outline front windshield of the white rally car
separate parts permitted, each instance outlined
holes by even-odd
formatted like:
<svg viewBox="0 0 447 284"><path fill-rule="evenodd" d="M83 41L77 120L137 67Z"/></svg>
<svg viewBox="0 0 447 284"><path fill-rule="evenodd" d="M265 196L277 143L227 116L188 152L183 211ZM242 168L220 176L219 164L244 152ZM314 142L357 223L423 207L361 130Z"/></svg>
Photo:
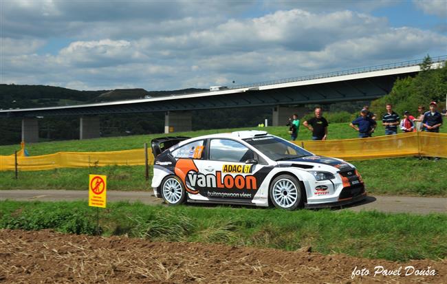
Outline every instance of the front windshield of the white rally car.
<svg viewBox="0 0 447 284"><path fill-rule="evenodd" d="M313 155L291 142L287 142L274 136L248 138L244 140L274 161L291 160L296 157Z"/></svg>

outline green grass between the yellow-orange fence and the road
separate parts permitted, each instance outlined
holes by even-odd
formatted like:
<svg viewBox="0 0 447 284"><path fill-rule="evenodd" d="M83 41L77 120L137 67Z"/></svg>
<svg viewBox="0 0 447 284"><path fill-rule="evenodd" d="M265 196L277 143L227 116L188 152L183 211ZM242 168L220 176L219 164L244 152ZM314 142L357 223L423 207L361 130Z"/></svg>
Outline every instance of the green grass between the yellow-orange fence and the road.
<svg viewBox="0 0 447 284"><path fill-rule="evenodd" d="M371 195L414 195L447 197L447 159L437 162L415 157L355 161ZM68 189L87 190L88 175L107 175L109 190L152 190L152 166L146 182L144 166L59 168L49 171L0 172L0 190ZM39 182L36 182L39 181Z"/></svg>

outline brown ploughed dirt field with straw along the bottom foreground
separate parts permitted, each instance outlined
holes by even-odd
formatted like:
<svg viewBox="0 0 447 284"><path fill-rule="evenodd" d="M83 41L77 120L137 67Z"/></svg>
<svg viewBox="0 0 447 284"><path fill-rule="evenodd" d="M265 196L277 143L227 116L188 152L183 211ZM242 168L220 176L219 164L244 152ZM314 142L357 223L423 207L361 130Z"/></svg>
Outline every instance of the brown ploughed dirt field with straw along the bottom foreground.
<svg viewBox="0 0 447 284"><path fill-rule="evenodd" d="M0 230L0 283L447 283L445 259L394 263L309 250ZM401 275L374 276L378 265ZM436 275L404 276L407 265ZM355 267L369 275L352 279Z"/></svg>

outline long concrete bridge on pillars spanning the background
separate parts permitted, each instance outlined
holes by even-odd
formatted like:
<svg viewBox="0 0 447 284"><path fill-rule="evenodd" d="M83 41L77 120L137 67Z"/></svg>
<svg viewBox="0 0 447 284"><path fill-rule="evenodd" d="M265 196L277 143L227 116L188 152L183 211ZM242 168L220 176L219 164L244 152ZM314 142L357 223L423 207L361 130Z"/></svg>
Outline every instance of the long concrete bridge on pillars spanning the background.
<svg viewBox="0 0 447 284"><path fill-rule="evenodd" d="M447 56L432 58L432 68L442 66ZM39 139L38 116L79 116L80 139L98 138L98 115L113 113L144 113L163 111L165 133L190 131L191 112L195 109L272 106L277 126L292 113L307 111L304 105L331 104L353 100L373 100L389 94L397 78L415 76L422 60L362 67L340 72L315 74L297 78L238 85L219 91L194 94L120 100L89 105L9 109L0 111L0 118L22 118L22 140Z"/></svg>

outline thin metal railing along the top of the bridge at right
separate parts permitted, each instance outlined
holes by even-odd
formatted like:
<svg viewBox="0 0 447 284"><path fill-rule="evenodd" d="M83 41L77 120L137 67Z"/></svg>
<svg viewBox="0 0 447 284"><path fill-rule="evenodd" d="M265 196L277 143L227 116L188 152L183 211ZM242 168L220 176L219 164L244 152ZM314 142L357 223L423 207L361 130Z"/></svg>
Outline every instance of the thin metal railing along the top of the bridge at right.
<svg viewBox="0 0 447 284"><path fill-rule="evenodd" d="M431 60L433 63L441 63L441 62L447 61L447 55L436 56L436 57L431 58ZM411 60L411 61L402 61L402 62L397 62L397 63L388 63L388 64L382 64L382 65L368 66L368 67L358 67L358 68L347 69L347 70L342 70L342 71L334 71L334 72L312 74L312 75L299 76L299 77L293 77L293 78L285 78L285 79L279 79L279 80L268 80L268 81L263 81L263 82L259 82L259 83L236 85L236 86L228 87L228 89L259 87L259 86L265 86L265 85L292 83L292 82L305 81L305 80L329 78L329 77L334 77L334 76L345 76L345 75L360 74L360 73L365 73L365 72L373 72L373 71L395 69L395 68L402 68L402 67L411 67L411 66L419 65L423 61L424 61L424 59L415 59L415 60Z"/></svg>

